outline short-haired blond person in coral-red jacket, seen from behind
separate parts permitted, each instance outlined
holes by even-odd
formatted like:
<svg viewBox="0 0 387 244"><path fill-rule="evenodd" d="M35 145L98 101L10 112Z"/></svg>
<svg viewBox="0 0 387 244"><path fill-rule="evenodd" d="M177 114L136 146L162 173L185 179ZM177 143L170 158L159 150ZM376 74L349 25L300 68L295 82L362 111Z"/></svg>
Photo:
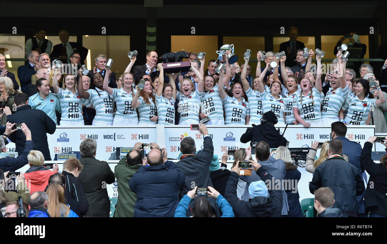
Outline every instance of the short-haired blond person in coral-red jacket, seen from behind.
<svg viewBox="0 0 387 244"><path fill-rule="evenodd" d="M31 150L27 156L29 169L24 173L24 178L26 178L26 184L30 189L31 194L35 191L43 191L48 184L48 179L51 175L58 172L58 164L53 164L52 171L43 164L45 163L45 158L43 153L36 150Z"/></svg>

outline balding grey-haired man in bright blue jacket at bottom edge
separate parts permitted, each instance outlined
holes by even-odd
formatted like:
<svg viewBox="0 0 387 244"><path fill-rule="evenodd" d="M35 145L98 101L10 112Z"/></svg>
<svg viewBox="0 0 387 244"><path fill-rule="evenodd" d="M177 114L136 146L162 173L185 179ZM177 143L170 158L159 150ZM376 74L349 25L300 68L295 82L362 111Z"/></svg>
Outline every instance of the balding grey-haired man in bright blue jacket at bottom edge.
<svg viewBox="0 0 387 244"><path fill-rule="evenodd" d="M36 191L32 193L28 198L29 203L29 215L28 217L51 217L48 210L48 195L44 191Z"/></svg>

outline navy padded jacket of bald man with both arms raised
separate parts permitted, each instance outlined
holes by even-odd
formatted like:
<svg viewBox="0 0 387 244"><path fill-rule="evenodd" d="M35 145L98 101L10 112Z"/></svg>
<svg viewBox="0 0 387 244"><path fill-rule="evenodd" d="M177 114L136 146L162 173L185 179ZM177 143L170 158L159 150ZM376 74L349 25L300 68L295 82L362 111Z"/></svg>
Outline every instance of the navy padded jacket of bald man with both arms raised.
<svg viewBox="0 0 387 244"><path fill-rule="evenodd" d="M134 217L173 217L184 181L185 175L172 161L141 166L129 181L137 195Z"/></svg>

